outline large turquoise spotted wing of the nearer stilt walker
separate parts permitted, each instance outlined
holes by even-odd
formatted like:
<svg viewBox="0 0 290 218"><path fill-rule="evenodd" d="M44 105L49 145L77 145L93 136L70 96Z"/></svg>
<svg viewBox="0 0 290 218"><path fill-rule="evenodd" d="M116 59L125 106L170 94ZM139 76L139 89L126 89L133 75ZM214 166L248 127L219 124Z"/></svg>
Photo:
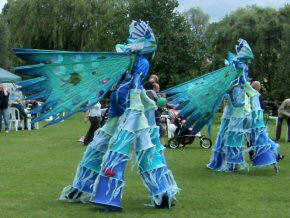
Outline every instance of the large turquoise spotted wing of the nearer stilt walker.
<svg viewBox="0 0 290 218"><path fill-rule="evenodd" d="M40 113L33 121L65 112L48 125L87 110L87 102L96 103L128 71L133 56L127 53L68 52L37 49L14 49L16 55L35 65L16 67L20 74L33 76L18 85L27 99L44 103L31 111Z"/></svg>

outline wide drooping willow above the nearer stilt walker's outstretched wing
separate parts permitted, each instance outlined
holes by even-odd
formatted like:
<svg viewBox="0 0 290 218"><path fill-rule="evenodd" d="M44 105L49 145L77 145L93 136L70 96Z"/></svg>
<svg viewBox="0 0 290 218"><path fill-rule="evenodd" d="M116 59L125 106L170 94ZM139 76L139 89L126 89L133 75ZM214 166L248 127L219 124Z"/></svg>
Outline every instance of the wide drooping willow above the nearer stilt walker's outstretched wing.
<svg viewBox="0 0 290 218"><path fill-rule="evenodd" d="M127 12L122 2L11 1L8 9L11 45L76 51L113 50L114 42L125 35L122 27ZM116 22L117 19L120 22Z"/></svg>

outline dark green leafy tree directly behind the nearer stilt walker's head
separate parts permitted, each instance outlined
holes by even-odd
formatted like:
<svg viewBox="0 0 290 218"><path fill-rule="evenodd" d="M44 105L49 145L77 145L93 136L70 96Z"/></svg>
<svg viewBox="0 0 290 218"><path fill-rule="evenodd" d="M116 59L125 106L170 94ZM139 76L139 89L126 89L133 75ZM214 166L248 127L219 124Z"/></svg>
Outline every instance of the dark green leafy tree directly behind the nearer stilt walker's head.
<svg viewBox="0 0 290 218"><path fill-rule="evenodd" d="M150 21L158 38L151 71L159 75L162 89L192 79L205 60L190 25L175 11L177 6L176 0L131 0L129 6L130 18Z"/></svg>

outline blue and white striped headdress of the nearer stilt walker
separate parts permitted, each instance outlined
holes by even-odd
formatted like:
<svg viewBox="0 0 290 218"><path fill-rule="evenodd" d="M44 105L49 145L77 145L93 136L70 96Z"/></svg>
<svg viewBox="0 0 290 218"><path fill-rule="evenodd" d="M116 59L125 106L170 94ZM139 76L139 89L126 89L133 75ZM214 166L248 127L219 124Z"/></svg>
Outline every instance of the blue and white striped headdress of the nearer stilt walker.
<svg viewBox="0 0 290 218"><path fill-rule="evenodd" d="M155 35L148 22L133 21L129 27L128 44L117 44L117 52L151 54L157 49Z"/></svg>

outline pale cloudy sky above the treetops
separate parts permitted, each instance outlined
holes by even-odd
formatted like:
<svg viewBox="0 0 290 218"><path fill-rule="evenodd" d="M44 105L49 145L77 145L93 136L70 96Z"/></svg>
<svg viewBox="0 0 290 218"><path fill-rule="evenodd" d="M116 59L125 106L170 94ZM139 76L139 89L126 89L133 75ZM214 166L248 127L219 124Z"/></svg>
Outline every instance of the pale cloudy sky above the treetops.
<svg viewBox="0 0 290 218"><path fill-rule="evenodd" d="M184 12L193 7L200 7L203 12L209 14L211 21L219 21L225 15L230 14L240 7L258 5L261 7L281 8L290 4L290 0L178 0L178 11ZM7 0L0 0L2 10Z"/></svg>

